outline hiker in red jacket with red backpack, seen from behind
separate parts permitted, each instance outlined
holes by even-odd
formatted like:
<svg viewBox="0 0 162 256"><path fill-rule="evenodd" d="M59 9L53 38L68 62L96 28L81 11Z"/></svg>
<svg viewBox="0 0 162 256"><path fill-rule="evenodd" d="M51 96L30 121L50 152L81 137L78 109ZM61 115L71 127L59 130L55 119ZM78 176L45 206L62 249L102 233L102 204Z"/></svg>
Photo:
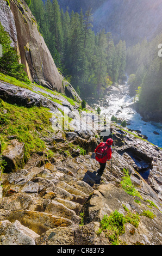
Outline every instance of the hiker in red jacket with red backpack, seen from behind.
<svg viewBox="0 0 162 256"><path fill-rule="evenodd" d="M113 144L113 139L109 138L109 139L107 139L107 141L105 143L101 142L95 149L95 153L96 153L95 158L100 164L100 168L98 170L99 175L103 174L107 160L111 159L111 154L112 154L111 145L112 144Z"/></svg>

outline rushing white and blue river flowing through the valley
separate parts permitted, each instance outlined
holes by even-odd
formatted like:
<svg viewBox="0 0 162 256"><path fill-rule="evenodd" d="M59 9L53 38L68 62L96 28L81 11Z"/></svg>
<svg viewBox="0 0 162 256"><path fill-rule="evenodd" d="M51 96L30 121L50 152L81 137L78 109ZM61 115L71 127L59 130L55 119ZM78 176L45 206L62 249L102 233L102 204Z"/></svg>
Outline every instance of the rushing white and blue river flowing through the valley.
<svg viewBox="0 0 162 256"><path fill-rule="evenodd" d="M141 115L132 107L134 97L129 94L127 82L119 85L118 89L119 92L111 92L106 97L108 106L104 102L100 105L101 114L108 114L110 119L113 115L117 118L126 119L128 129L139 130L141 135L147 136L147 141L162 148L162 124L142 120Z"/></svg>

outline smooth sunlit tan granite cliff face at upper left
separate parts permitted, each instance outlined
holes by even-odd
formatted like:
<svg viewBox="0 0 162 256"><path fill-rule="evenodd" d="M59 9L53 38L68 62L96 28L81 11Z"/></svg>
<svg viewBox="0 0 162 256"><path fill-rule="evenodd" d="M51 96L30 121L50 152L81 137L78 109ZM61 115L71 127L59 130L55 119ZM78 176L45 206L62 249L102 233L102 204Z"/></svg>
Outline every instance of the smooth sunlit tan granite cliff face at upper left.
<svg viewBox="0 0 162 256"><path fill-rule="evenodd" d="M17 31L17 47L30 80L63 92L62 80L52 56L38 31L34 16L25 1L10 1Z"/></svg>

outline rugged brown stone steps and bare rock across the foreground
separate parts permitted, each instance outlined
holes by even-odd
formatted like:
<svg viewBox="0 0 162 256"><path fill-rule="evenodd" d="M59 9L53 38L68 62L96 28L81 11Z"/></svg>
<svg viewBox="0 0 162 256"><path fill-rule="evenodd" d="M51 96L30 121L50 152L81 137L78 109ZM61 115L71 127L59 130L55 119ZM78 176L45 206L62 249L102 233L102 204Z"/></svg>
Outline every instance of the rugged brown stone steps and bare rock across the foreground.
<svg viewBox="0 0 162 256"><path fill-rule="evenodd" d="M69 132L65 135L73 143L77 137L72 138ZM85 140L83 135L81 141ZM59 141L59 137L55 139ZM114 143L112 166L107 162L102 176L97 174L99 164L92 158L92 150L80 155L73 148L70 155L57 152L50 160L43 152L33 153L23 168L3 173L0 244L111 245L104 231L98 234L100 222L115 210L126 216L127 208L139 215L140 221L136 227L124 225L120 244L160 245L161 150L115 125ZM64 139L58 142L59 148L66 144ZM131 157L133 154L138 163ZM150 171L146 182L138 171L147 168ZM123 190L123 169L129 171L132 186L140 196ZM153 218L142 215L148 210Z"/></svg>

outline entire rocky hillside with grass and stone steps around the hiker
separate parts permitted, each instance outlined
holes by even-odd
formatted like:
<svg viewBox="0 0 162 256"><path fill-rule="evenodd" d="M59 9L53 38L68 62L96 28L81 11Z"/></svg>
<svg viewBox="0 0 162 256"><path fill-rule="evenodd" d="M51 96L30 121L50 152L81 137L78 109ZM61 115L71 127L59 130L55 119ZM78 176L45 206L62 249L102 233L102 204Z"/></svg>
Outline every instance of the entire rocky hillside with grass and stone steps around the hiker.
<svg viewBox="0 0 162 256"><path fill-rule="evenodd" d="M161 149L111 124L113 159L99 176L92 157L99 142L95 112L83 112L86 129L78 103L52 90L1 81L0 95L7 162L0 181L1 245L161 245ZM70 129L55 126L61 117ZM139 171L146 170L144 180ZM122 220L117 231L116 222L108 225L112 217Z"/></svg>

